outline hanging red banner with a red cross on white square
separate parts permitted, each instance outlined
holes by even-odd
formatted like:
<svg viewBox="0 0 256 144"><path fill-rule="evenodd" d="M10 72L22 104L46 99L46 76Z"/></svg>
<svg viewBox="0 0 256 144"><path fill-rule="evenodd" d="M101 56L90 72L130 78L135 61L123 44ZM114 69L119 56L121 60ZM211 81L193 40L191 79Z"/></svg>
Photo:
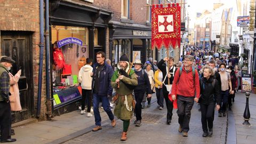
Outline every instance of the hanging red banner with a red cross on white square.
<svg viewBox="0 0 256 144"><path fill-rule="evenodd" d="M180 6L168 4L167 7L153 5L151 9L151 48L168 49L180 47Z"/></svg>

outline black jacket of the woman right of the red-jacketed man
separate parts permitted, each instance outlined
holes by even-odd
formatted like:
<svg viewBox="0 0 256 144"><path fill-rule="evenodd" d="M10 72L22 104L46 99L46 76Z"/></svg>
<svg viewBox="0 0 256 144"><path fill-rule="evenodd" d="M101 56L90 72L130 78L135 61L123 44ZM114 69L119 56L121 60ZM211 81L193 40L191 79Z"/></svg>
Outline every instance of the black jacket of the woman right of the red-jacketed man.
<svg viewBox="0 0 256 144"><path fill-rule="evenodd" d="M211 76L209 79L202 77L200 79L200 94L199 99L200 103L209 105L210 103L215 103L214 95L217 101L217 104L221 103L221 95L218 81Z"/></svg>

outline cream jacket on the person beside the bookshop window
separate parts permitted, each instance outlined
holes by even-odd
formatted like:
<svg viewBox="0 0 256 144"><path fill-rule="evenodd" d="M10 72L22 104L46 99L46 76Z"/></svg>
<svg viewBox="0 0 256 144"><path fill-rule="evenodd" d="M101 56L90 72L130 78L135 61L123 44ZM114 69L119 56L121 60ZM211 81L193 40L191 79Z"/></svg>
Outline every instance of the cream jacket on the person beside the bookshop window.
<svg viewBox="0 0 256 144"><path fill-rule="evenodd" d="M82 89L92 90L92 69L90 65L85 65L79 70L78 82L81 83Z"/></svg>

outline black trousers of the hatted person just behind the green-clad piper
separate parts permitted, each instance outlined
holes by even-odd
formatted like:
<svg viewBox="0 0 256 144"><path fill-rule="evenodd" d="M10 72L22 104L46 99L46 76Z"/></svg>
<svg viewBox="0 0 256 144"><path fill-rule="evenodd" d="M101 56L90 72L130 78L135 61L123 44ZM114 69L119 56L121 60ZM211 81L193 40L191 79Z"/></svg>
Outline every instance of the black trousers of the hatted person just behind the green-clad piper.
<svg viewBox="0 0 256 144"><path fill-rule="evenodd" d="M136 121L141 120L141 102L143 100L143 97L145 95L146 89L143 90L134 90L134 96L136 100L136 105L135 105L135 116L136 116Z"/></svg>

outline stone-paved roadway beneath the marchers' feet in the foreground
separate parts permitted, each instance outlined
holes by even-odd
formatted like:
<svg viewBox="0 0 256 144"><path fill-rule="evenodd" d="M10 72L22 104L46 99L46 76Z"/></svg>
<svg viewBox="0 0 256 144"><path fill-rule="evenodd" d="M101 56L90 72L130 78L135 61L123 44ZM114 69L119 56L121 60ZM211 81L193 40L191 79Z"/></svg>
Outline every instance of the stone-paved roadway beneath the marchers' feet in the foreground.
<svg viewBox="0 0 256 144"><path fill-rule="evenodd" d="M198 108L199 105L195 103L191 111L188 137L182 137L182 134L178 132L176 110L173 110L171 125L166 125L166 108L158 110L155 98L150 108L142 109L140 127L133 124L135 118L133 117L127 132L128 139L123 143L225 143L227 118L218 117L215 111L213 137L203 138L201 112ZM110 121L103 123L102 130L86 133L66 143L121 143L122 124L123 122L118 120L116 127L113 128L110 126Z"/></svg>

